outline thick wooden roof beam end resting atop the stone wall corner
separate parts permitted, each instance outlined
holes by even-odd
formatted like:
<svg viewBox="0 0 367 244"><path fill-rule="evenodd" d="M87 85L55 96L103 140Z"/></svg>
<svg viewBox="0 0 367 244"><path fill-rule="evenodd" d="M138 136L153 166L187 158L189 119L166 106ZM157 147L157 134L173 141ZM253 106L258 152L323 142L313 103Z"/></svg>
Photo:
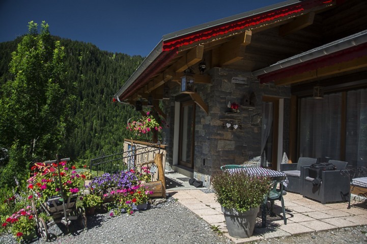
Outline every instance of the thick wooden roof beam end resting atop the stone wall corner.
<svg viewBox="0 0 367 244"><path fill-rule="evenodd" d="M243 47L251 43L251 31L245 31L220 47L220 66L232 64L243 58Z"/></svg>

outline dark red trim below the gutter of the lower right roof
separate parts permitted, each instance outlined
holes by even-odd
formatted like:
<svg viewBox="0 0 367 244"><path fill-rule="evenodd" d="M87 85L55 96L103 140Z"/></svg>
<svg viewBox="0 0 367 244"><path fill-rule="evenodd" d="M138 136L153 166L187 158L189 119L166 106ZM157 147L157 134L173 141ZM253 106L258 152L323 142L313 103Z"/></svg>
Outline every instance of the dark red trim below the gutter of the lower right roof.
<svg viewBox="0 0 367 244"><path fill-rule="evenodd" d="M274 71L272 73L267 73L259 76L259 79L260 83L277 81L292 75L302 74L307 71L312 71L319 68L332 66L338 63L347 62L363 56L367 56L367 44L347 48L326 56L308 60L307 62L300 63L298 65L290 66L281 70Z"/></svg>

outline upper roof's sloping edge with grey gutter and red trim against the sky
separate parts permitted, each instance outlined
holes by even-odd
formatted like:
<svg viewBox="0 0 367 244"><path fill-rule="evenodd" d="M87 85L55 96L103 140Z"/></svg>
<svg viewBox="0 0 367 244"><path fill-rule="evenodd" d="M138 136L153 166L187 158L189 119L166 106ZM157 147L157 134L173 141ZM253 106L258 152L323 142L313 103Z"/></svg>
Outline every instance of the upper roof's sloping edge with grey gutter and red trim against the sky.
<svg viewBox="0 0 367 244"><path fill-rule="evenodd" d="M127 100L162 72L167 65L170 65L170 62L182 51L248 30L256 31L264 26L306 14L311 10L318 11L334 5L336 0L291 0L167 34L126 81L115 98L120 101Z"/></svg>

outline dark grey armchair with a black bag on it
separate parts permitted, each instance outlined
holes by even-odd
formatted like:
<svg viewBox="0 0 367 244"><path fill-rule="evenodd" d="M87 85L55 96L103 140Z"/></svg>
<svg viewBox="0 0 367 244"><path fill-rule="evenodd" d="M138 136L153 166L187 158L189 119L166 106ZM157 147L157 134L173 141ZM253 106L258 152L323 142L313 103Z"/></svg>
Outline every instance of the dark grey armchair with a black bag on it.
<svg viewBox="0 0 367 244"><path fill-rule="evenodd" d="M349 178L341 171L346 169L348 163L338 160L329 160L336 166L336 170L322 171L320 185L314 185L314 178L309 177L309 167L303 170L302 195L325 204L327 202L345 201L349 194Z"/></svg>

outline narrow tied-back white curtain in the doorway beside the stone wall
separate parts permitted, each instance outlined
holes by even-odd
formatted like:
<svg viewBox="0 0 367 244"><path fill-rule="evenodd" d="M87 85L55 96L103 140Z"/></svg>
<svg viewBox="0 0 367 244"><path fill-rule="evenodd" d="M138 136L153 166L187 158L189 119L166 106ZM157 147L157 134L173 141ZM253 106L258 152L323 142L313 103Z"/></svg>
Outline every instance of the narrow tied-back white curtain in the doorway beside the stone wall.
<svg viewBox="0 0 367 244"><path fill-rule="evenodd" d="M261 165L263 167L265 167L266 163L268 162L267 155L269 154L267 154L265 146L267 144L270 135L272 124L273 124L273 103L265 102L263 104L263 116L261 127Z"/></svg>

